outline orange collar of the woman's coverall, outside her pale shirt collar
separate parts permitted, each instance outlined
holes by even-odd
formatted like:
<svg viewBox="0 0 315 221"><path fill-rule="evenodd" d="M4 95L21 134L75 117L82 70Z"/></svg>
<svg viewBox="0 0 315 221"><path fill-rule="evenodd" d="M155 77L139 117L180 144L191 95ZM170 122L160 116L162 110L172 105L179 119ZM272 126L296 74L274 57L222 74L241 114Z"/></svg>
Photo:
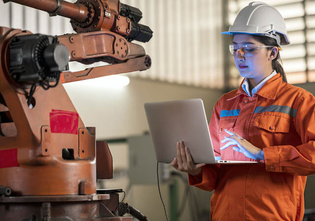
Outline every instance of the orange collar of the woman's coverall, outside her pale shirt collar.
<svg viewBox="0 0 315 221"><path fill-rule="evenodd" d="M245 81L245 78L243 79L241 85L239 86L239 88L235 92L234 96L227 99L227 101L232 100L241 94L248 95L243 90L243 87L242 87L244 81ZM264 83L264 86L261 86L260 90L257 91L256 94L258 94L262 97L265 97L267 99L275 100L276 95L277 95L277 91L278 91L278 88L279 88L279 85L281 82L282 82L282 76L280 75L280 73L277 73L276 75L272 76L269 80L267 80Z"/></svg>

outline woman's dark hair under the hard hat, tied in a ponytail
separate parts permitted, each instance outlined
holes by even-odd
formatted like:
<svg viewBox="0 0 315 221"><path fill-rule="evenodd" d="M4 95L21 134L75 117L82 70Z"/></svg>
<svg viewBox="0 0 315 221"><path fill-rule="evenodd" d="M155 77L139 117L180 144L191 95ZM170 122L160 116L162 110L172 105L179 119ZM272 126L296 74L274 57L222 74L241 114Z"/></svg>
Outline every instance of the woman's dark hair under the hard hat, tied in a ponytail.
<svg viewBox="0 0 315 221"><path fill-rule="evenodd" d="M267 36L261 36L261 35L252 35L252 36L254 39L256 39L257 41L259 41L260 43L262 43L264 45L280 47L277 44L277 40L275 38L271 38L271 37L267 37ZM271 49L268 48L268 50L271 50ZM280 60L282 63L279 52L278 52L277 57L275 59L273 59L271 62L272 69L276 70L277 73L281 74L283 82L287 82L286 77L285 77L285 73L284 73L284 69L278 60Z"/></svg>

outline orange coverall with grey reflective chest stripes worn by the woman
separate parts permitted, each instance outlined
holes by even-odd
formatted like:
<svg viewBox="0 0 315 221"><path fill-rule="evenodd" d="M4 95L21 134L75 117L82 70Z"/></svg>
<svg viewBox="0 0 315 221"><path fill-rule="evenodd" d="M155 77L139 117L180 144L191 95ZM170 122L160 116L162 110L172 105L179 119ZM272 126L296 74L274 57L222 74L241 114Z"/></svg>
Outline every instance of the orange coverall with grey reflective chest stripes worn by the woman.
<svg viewBox="0 0 315 221"><path fill-rule="evenodd" d="M244 81L244 80L243 80ZM242 85L242 84L241 84ZM315 97L278 73L253 97L240 86L221 96L209 124L216 156L255 161L220 150L228 129L264 151L264 164L206 165L189 185L213 191L212 221L302 221L306 176L315 173Z"/></svg>

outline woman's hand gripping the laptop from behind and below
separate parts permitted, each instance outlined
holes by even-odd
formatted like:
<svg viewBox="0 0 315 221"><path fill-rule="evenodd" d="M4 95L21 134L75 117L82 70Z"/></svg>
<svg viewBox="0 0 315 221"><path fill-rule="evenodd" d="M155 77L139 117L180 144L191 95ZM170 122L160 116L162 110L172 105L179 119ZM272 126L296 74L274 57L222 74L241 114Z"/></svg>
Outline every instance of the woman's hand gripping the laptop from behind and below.
<svg viewBox="0 0 315 221"><path fill-rule="evenodd" d="M177 158L172 161L172 166L181 171L187 172L192 176L195 176L202 172L201 166L206 164L194 164L189 152L188 147L185 147L184 141L177 142Z"/></svg>

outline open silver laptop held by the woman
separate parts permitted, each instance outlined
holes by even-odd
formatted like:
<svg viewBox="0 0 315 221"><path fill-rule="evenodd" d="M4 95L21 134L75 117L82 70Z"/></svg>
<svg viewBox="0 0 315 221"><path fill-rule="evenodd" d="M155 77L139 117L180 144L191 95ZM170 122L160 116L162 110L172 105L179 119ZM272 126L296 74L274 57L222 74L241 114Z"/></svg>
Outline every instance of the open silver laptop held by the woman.
<svg viewBox="0 0 315 221"><path fill-rule="evenodd" d="M176 143L183 140L196 164L260 163L216 160L201 99L145 103L144 108L158 162L171 163L177 157Z"/></svg>

